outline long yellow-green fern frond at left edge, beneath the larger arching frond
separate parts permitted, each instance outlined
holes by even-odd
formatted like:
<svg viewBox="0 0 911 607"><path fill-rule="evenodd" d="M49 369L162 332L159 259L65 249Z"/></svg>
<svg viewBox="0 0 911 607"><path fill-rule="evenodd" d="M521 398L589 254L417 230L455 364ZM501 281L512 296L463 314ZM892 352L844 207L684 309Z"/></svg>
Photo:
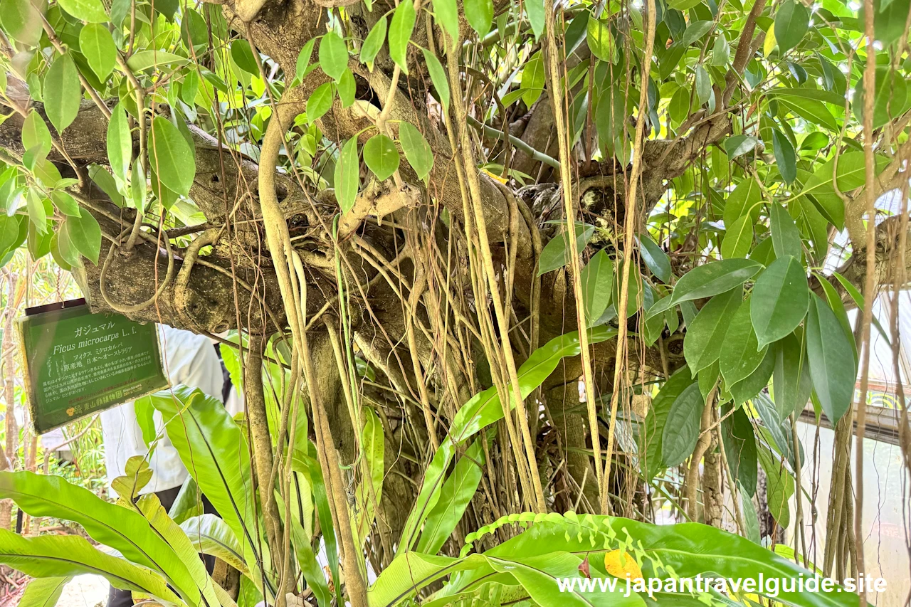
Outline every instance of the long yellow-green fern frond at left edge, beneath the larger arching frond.
<svg viewBox="0 0 911 607"><path fill-rule="evenodd" d="M42 535L27 539L12 531L0 530L0 562L39 579L58 580L60 576L85 573L102 575L115 588L145 592L168 603L180 602L179 596L169 590L158 574L97 550L85 538L76 535Z"/></svg>

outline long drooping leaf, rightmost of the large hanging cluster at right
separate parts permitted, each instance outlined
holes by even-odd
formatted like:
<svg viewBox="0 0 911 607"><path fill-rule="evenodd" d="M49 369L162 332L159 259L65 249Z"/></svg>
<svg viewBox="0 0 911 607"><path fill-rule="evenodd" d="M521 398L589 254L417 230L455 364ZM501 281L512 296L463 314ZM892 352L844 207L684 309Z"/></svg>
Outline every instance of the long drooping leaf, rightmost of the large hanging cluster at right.
<svg viewBox="0 0 911 607"><path fill-rule="evenodd" d="M854 351L832 309L815 293L806 317L806 353L810 376L825 417L833 424L854 400L857 369Z"/></svg>

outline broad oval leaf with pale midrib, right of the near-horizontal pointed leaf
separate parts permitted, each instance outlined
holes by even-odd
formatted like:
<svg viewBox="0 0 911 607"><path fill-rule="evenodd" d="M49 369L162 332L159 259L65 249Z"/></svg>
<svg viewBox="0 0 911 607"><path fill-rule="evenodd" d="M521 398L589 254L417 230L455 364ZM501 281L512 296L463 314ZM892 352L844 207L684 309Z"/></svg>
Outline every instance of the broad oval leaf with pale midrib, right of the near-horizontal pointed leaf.
<svg viewBox="0 0 911 607"><path fill-rule="evenodd" d="M772 262L756 280L752 293L750 313L759 347L792 333L810 305L804 266L791 255Z"/></svg>

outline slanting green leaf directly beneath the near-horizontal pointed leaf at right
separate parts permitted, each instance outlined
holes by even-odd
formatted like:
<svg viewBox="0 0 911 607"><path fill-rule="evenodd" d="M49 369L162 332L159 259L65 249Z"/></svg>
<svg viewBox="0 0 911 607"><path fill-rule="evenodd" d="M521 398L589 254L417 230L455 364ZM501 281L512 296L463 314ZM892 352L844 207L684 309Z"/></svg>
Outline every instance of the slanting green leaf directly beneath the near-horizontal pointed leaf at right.
<svg viewBox="0 0 911 607"><path fill-rule="evenodd" d="M742 302L742 288L734 287L727 293L715 295L702 306L687 327L683 337L683 355L687 365L690 365L692 376L718 360L728 325Z"/></svg>

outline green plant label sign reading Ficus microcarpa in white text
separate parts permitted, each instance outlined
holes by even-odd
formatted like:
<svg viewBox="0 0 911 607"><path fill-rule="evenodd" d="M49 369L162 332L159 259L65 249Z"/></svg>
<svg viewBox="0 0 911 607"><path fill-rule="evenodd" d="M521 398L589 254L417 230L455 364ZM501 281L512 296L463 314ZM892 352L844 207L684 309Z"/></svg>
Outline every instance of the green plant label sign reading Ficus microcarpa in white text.
<svg viewBox="0 0 911 607"><path fill-rule="evenodd" d="M154 324L77 300L26 311L18 330L38 434L169 386Z"/></svg>

